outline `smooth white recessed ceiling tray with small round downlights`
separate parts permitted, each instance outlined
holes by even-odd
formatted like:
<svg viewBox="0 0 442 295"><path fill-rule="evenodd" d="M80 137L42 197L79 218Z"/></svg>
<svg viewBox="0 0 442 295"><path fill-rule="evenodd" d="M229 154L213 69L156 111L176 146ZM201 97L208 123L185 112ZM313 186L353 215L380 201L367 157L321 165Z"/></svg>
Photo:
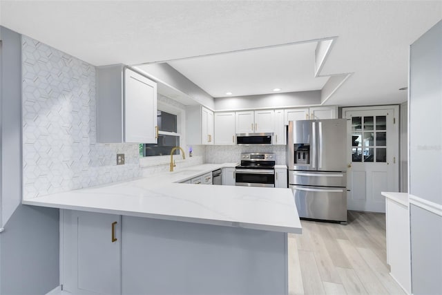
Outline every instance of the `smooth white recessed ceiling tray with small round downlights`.
<svg viewBox="0 0 442 295"><path fill-rule="evenodd" d="M182 75L212 97L281 92L311 91L323 88L328 77L315 77L314 53L318 42L308 42L171 61Z"/></svg>

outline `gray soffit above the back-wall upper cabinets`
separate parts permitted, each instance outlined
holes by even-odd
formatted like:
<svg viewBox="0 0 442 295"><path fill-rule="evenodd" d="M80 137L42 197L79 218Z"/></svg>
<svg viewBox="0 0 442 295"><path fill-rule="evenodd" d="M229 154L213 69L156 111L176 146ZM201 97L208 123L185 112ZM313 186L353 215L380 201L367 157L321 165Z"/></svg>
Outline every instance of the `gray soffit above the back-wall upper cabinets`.
<svg viewBox="0 0 442 295"><path fill-rule="evenodd" d="M282 108L320 104L320 91L300 91L215 98L215 110Z"/></svg>

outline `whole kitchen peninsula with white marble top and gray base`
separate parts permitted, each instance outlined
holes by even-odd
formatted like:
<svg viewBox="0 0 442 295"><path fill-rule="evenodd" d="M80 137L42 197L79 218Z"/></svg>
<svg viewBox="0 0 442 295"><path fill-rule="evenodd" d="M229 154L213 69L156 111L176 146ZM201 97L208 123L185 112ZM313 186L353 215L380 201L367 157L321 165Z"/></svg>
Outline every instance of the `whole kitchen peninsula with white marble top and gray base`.
<svg viewBox="0 0 442 295"><path fill-rule="evenodd" d="M68 292L288 294L287 233L302 231L291 189L177 183L225 166L23 204L64 209L61 284Z"/></svg>

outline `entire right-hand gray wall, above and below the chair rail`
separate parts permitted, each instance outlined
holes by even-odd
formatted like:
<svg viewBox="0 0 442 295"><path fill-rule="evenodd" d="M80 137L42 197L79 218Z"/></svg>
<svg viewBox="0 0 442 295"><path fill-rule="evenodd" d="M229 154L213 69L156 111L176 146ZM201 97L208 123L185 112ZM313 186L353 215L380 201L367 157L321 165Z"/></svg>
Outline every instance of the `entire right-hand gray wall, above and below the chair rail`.
<svg viewBox="0 0 442 295"><path fill-rule="evenodd" d="M412 293L442 294L442 21L410 48L410 207ZM439 214L437 214L439 211Z"/></svg>

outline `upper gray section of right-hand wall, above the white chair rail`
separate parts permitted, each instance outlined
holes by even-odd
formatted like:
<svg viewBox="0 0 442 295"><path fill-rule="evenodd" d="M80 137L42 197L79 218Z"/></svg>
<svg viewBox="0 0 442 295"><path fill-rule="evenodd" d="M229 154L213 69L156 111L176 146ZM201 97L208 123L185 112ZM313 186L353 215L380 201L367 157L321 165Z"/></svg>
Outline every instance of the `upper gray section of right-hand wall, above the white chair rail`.
<svg viewBox="0 0 442 295"><path fill-rule="evenodd" d="M410 193L442 204L442 21L410 55Z"/></svg>

